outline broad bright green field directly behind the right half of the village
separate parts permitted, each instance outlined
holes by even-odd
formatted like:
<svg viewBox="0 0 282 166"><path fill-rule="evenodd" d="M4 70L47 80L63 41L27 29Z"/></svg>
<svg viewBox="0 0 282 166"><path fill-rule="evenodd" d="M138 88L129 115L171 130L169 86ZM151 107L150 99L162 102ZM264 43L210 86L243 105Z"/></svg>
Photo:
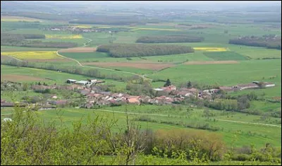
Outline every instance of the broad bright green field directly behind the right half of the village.
<svg viewBox="0 0 282 166"><path fill-rule="evenodd" d="M152 78L170 78L173 83L195 81L197 83L237 85L252 81L274 82L281 89L281 60L240 61L238 64L179 65L159 73ZM277 76L269 79L270 76ZM277 92L276 94L281 94Z"/></svg>

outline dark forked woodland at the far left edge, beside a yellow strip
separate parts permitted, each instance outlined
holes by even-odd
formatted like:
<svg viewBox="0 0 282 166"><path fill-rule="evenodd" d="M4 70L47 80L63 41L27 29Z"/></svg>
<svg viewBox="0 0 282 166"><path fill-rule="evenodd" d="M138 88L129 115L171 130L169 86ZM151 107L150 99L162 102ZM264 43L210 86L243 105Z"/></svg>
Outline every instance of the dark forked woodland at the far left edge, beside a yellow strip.
<svg viewBox="0 0 282 166"><path fill-rule="evenodd" d="M49 47L49 48L70 48L77 47L74 42L42 42L41 40L26 39L44 39L45 35L39 34L11 34L1 33L1 45L17 47Z"/></svg>

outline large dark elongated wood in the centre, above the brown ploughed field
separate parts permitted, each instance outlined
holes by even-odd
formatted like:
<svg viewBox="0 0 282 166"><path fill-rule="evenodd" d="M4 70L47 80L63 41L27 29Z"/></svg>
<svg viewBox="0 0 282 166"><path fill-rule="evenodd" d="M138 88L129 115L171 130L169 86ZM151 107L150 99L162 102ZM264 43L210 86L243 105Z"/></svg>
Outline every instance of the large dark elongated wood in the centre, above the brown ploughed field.
<svg viewBox="0 0 282 166"><path fill-rule="evenodd" d="M179 45L112 44L99 46L97 52L108 52L111 57L146 57L185 54L194 49Z"/></svg>

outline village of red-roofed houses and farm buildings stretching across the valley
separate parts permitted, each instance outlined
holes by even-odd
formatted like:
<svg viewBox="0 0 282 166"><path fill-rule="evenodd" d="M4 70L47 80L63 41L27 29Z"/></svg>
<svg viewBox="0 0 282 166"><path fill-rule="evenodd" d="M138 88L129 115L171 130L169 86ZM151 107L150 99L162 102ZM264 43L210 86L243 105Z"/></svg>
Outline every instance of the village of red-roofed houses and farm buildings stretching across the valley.
<svg viewBox="0 0 282 166"><path fill-rule="evenodd" d="M32 85L32 90L36 92L44 92L45 90L71 90L80 93L81 97L85 98L84 103L80 103L79 107L93 108L102 105L172 105L180 104L187 97L194 97L199 100L214 100L214 95L220 91L234 92L238 90L255 89L255 88L269 88L274 87L274 83L266 83L253 81L252 83L239 84L233 86L219 86L219 88L199 90L197 88L176 88L175 85L168 85L166 87L154 88L154 96L147 95L129 95L128 93L111 93L99 88L98 84L105 83L105 81L99 81L97 79L88 79L87 81L76 81L74 79L68 79L66 81L68 85ZM61 99L56 95L49 95L49 100L46 102L36 103L39 105L39 109L51 109L54 107L61 107L63 105L69 105L70 100ZM13 107L13 102L7 102L1 100L1 107ZM27 102L18 102L19 106L29 105Z"/></svg>

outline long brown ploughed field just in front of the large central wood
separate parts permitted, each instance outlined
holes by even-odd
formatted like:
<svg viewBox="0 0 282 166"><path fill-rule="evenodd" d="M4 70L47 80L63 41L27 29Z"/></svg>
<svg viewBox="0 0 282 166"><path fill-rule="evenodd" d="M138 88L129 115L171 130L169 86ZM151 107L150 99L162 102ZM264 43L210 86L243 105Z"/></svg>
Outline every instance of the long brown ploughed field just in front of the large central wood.
<svg viewBox="0 0 282 166"><path fill-rule="evenodd" d="M127 63L127 62L85 62L82 65L95 65L100 67L133 67L138 69L161 70L173 66L173 64L159 63Z"/></svg>

